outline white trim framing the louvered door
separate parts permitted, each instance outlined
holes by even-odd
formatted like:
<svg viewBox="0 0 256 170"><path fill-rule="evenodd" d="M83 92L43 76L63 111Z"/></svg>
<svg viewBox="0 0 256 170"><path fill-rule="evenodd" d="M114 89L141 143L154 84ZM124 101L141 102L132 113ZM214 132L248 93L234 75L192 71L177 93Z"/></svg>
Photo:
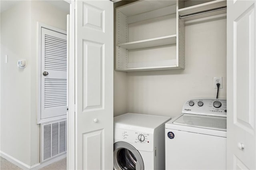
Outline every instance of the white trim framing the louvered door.
<svg viewBox="0 0 256 170"><path fill-rule="evenodd" d="M67 32L65 30L61 30L59 28L53 27L53 26L49 26L47 24L41 23L41 22L37 22L37 35L38 35L38 45L37 45L37 51L38 51L38 98L37 98L37 124L41 124L41 123L47 123L47 122L51 122L51 121L57 121L60 119L66 119L67 116L63 115L63 116L58 116L58 117L51 117L51 118L47 118L47 119L41 119L41 36L42 36L42 28L46 28L48 30L52 30L55 32L59 32L62 34L66 34Z"/></svg>

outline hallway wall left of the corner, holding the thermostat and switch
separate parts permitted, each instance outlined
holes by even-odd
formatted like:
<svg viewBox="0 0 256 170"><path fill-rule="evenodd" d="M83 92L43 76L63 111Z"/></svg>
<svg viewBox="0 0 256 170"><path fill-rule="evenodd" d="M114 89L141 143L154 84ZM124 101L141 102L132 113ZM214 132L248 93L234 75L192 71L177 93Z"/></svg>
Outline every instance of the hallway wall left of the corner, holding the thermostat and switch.
<svg viewBox="0 0 256 170"><path fill-rule="evenodd" d="M1 152L30 164L30 2L1 13ZM4 55L8 54L8 63ZM25 69L17 67L26 59Z"/></svg>

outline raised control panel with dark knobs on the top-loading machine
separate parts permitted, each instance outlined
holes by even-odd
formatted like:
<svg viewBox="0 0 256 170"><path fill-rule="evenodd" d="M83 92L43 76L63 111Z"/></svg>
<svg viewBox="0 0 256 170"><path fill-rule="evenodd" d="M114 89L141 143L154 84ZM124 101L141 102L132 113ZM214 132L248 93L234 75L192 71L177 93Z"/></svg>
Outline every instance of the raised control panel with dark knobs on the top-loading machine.
<svg viewBox="0 0 256 170"><path fill-rule="evenodd" d="M182 113L210 116L227 116L226 99L190 99L182 108Z"/></svg>

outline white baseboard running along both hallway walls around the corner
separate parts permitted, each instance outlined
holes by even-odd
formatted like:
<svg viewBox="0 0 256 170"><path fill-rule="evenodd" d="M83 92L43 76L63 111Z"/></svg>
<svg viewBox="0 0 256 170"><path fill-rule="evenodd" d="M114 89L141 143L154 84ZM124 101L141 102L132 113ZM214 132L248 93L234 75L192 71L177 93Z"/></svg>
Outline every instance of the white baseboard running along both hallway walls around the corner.
<svg viewBox="0 0 256 170"><path fill-rule="evenodd" d="M43 162L43 163L38 163L38 164L34 164L33 166L29 166L28 164L25 164L24 162L21 162L20 160L0 151L0 156L2 156L4 159L10 161L12 164L22 168L23 170L38 170L40 168L43 168L45 166L48 166L54 162L57 162L59 160L62 160L64 158L67 157L67 154L62 154L56 158L53 158L51 160L48 160L47 162Z"/></svg>

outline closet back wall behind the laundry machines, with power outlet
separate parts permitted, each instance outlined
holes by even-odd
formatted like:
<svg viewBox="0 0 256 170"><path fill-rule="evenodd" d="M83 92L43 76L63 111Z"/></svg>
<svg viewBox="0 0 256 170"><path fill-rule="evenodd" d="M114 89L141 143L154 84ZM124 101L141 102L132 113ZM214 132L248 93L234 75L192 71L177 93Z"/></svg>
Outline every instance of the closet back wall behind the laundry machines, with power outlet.
<svg viewBox="0 0 256 170"><path fill-rule="evenodd" d="M115 110L114 116L131 112L174 117L188 99L216 97L213 77L223 77L219 97L226 98L226 18L186 22L185 34L185 69L129 72L126 80L116 77L118 84L127 82L126 89L115 89L117 98L127 93L127 109Z"/></svg>

